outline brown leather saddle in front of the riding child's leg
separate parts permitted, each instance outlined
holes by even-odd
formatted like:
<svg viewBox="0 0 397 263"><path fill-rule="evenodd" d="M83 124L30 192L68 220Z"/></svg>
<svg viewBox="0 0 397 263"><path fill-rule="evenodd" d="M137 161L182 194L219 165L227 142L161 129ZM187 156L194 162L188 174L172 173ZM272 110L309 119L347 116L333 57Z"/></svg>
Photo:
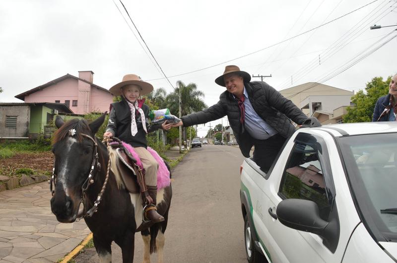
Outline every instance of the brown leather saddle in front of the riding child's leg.
<svg viewBox="0 0 397 263"><path fill-rule="evenodd" d="M136 159L130 153L126 153L123 148L116 148L119 157L119 173L123 180L124 186L130 193L140 193L137 178L133 166L136 165Z"/></svg>

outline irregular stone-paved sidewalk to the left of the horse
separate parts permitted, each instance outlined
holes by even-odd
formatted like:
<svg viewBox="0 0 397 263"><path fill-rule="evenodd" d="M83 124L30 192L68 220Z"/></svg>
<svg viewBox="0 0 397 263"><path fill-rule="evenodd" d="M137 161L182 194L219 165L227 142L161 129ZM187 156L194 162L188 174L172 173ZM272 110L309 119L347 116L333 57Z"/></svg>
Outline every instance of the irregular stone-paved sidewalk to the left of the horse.
<svg viewBox="0 0 397 263"><path fill-rule="evenodd" d="M0 192L0 263L57 262L90 233L58 222L50 199L47 182Z"/></svg>

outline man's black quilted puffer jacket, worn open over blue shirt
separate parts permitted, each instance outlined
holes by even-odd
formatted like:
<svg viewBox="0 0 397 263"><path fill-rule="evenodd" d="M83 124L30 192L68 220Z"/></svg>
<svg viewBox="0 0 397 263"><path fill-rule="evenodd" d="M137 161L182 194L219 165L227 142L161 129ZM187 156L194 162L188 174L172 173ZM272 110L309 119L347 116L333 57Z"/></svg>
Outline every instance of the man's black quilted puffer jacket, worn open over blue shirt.
<svg viewBox="0 0 397 263"><path fill-rule="evenodd" d="M244 86L254 110L284 138L288 138L295 131L291 119L295 123L301 124L307 118L295 104L284 98L267 83L253 81L244 83ZM250 150L254 145L253 139L244 129L244 126L241 125L237 100L228 91L223 92L219 96L217 104L202 111L183 116L182 121L184 126L187 127L216 120L225 115L229 119L230 127L236 137L241 153L245 157L250 157Z"/></svg>

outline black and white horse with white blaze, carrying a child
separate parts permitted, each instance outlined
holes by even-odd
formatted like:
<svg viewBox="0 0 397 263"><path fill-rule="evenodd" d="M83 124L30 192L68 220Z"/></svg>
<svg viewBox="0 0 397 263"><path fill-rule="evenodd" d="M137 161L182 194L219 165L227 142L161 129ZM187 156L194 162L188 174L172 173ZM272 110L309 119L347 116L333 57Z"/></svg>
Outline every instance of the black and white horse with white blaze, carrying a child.
<svg viewBox="0 0 397 263"><path fill-rule="evenodd" d="M109 159L117 161L116 155L95 138L104 119L105 114L90 124L85 120L72 119L64 123L61 118L56 119L59 129L52 149L55 162L51 210L58 221L71 223L78 219L79 207L83 204L84 220L93 233L101 263L112 261L112 241L122 249L123 263L131 263L137 231L141 231L144 242L143 262L149 263L150 254L157 251L158 262L162 263L171 185L157 192L157 211L165 220L142 224L141 196L126 191L120 184L118 171L108 169Z"/></svg>

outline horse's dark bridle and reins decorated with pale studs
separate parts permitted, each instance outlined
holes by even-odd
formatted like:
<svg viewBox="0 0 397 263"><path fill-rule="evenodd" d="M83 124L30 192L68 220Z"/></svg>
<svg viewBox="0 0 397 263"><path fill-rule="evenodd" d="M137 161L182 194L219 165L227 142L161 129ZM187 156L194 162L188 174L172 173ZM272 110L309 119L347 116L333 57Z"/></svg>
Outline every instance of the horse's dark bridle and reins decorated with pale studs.
<svg viewBox="0 0 397 263"><path fill-rule="evenodd" d="M75 132L76 131L74 129L70 129L69 130L69 136L73 136L75 134ZM106 185L108 183L109 171L110 171L110 158L109 158L108 168L107 168L107 171L106 171L106 177L105 177L105 181L104 181L104 183L102 185L102 189L99 192L99 194L98 194L98 196L97 196L92 208L90 210L86 211L85 204L84 204L84 199L86 198L86 192L87 192L89 186L94 183L95 168L97 167L98 169L100 169L101 168L101 163L98 160L98 144L96 143L95 139L93 139L91 136L89 136L87 134L84 134L84 133L81 133L81 136L84 136L84 137L90 139L94 143L94 152L93 152L90 172L88 174L87 179L85 179L84 183L81 185L81 196L80 196L80 203L79 203L78 206L80 207L80 204L83 203L84 210L83 210L82 214L78 214L77 215L77 220L76 221L78 221L79 219L81 219L83 217L91 217L94 214L94 212L96 212L98 210L99 203L101 203L102 195L105 192ZM55 158L54 158L53 173L52 173L51 178L48 181L48 183L50 184L51 194L54 196L54 194L55 194L54 188L57 185L57 174L55 173ZM53 188L53 186L54 186L54 188Z"/></svg>

